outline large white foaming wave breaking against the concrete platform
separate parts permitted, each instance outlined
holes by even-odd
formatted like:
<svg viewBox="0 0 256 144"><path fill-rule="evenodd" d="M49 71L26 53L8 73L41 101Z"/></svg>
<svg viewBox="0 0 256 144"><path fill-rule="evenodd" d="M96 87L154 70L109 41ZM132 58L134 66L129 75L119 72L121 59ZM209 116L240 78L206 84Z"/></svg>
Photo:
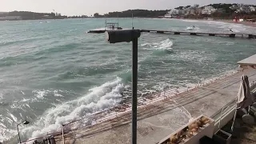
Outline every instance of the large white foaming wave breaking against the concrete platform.
<svg viewBox="0 0 256 144"><path fill-rule="evenodd" d="M35 126L27 127L22 130L28 138L38 138L47 132L59 132L62 130L62 124L66 124L85 117L94 112L108 109L121 102L122 91L124 90L122 79L117 78L113 82L106 82L102 86L94 87L89 90L82 98L65 102L56 106L42 115L42 118L35 122ZM46 90L45 90L46 91ZM46 92L36 91L39 98L42 98Z"/></svg>

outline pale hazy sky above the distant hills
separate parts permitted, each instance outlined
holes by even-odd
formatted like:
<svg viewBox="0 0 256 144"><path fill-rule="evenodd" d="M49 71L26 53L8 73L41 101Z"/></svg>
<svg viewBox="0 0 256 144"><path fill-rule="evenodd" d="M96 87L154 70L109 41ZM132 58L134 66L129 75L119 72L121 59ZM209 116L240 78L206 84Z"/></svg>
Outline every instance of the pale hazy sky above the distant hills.
<svg viewBox="0 0 256 144"><path fill-rule="evenodd" d="M0 0L0 11L27 10L81 15L105 14L110 11L147 9L169 10L175 6L204 6L210 3L256 4L256 0Z"/></svg>

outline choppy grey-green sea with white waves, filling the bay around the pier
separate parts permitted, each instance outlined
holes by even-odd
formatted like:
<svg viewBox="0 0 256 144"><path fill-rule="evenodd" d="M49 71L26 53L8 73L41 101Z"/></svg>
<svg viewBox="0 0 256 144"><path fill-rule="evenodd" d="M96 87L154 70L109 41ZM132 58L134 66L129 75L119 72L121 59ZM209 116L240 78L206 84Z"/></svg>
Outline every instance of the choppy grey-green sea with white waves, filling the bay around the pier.
<svg viewBox="0 0 256 144"><path fill-rule="evenodd" d="M85 18L0 22L0 142L36 138L68 122L131 98L131 43L88 34L105 22L122 28L256 33L241 24L152 18ZM138 38L138 97L186 87L237 70L256 41L142 33Z"/></svg>

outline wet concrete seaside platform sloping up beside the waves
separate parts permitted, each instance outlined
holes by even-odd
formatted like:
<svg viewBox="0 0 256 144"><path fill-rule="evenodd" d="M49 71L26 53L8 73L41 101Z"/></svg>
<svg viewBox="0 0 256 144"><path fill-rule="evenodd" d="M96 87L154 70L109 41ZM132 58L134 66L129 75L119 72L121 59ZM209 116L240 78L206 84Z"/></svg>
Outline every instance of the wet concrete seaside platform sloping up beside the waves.
<svg viewBox="0 0 256 144"><path fill-rule="evenodd" d="M186 124L192 117L205 114L215 117L223 106L234 102L242 74L250 82L256 80L256 70L247 69L229 77L219 79L208 86L184 92L165 100L151 103L138 109L138 143L154 144ZM188 112L190 114L188 114ZM77 144L130 144L131 114L122 114L117 118L81 128L65 134L65 143ZM58 143L62 143L61 136Z"/></svg>

